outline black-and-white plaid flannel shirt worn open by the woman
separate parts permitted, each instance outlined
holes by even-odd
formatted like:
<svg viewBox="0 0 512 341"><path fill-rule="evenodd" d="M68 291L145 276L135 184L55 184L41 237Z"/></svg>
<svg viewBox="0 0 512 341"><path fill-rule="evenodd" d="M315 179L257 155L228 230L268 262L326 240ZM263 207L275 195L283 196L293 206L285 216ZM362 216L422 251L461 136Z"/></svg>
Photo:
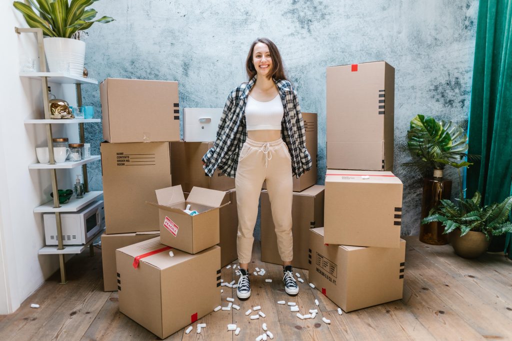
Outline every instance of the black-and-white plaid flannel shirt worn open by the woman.
<svg viewBox="0 0 512 341"><path fill-rule="evenodd" d="M247 139L245 105L257 77L254 76L248 83L242 83L229 94L217 129L217 139L214 146L203 156L203 168L209 176L217 168L229 177L235 177L237 173L238 157ZM311 169L301 107L298 105L297 93L289 81L274 79L274 82L284 108L281 138L290 152L292 173L299 177Z"/></svg>

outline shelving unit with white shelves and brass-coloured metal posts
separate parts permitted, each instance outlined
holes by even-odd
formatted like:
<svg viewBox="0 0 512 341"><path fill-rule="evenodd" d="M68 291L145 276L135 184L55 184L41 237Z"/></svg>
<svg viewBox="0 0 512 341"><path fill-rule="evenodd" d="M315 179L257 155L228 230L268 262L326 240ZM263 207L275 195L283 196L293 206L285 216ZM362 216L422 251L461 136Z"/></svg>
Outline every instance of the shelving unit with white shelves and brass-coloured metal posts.
<svg viewBox="0 0 512 341"><path fill-rule="evenodd" d="M46 126L46 135L47 135L47 144L49 147L52 146L52 124L78 124L80 130L80 143L84 142L84 123L97 123L101 122L100 119L61 119L55 120L50 119L50 105L48 102L48 96L45 96L48 89L48 81L53 83L60 84L76 84L76 97L77 97L77 105L82 106L82 93L81 93L81 85L82 84L92 84L98 85L98 81L90 78L83 78L75 75L71 75L69 73L61 73L61 72L46 72L46 59L45 59L45 51L42 43L42 30L35 28L15 28L16 33L35 33L37 37L37 45L39 52L39 69L42 72L24 72L20 73L20 77L28 77L32 79L37 79L41 82L42 89L42 99L44 102L45 108L45 118L44 119L30 119L25 120L25 124L44 124ZM52 192L53 192L53 200L42 204L34 208L34 213L55 213L55 220L57 224L57 236L58 236L58 245L57 246L45 246L41 248L38 252L39 255L58 255L59 263L60 263L60 284L66 284L66 264L64 255L67 254L78 254L81 253L86 247L89 246L91 255L94 255L94 248L92 242L104 231L100 231L94 238L91 239L88 243L84 245L63 245L62 242L62 226L60 220L60 213L62 212L76 212L83 207L86 207L89 203L94 200L97 200L102 194L102 191L89 191L88 185L88 177L87 177L87 164L93 161L100 160L101 157L99 155L93 155L86 160L81 160L78 162L65 162L65 163L55 163L55 158L53 155L53 148L48 148L48 153L50 156L50 162L48 164L32 164L29 165L29 169L48 169L51 174L52 179ZM82 176L83 176L83 184L85 195L80 199L70 199L69 202L64 204L59 204L58 199L58 188L57 188L57 169L71 169L75 167L82 166Z"/></svg>

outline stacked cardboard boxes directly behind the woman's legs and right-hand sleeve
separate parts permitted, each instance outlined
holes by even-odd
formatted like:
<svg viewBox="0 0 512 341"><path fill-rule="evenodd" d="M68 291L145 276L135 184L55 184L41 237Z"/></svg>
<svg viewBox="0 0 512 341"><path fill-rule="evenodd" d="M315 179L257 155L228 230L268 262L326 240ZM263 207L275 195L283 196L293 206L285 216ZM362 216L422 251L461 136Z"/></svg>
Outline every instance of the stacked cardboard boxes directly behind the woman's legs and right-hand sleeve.
<svg viewBox="0 0 512 341"><path fill-rule="evenodd" d="M317 115L302 113L306 130L306 149L311 155L312 168L301 177L293 177L292 203L292 266L308 268L309 229L324 225L324 186L315 185L317 178ZM261 260L262 262L283 264L278 252L270 199L263 184L261 193Z"/></svg>

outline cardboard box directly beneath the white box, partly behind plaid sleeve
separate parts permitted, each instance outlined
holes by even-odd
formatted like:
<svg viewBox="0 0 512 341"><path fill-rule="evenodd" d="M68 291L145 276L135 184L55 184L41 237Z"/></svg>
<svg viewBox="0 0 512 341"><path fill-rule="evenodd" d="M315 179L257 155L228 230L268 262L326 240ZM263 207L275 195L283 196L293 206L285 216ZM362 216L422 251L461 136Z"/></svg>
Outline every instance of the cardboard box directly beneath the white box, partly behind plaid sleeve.
<svg viewBox="0 0 512 341"><path fill-rule="evenodd" d="M173 165L173 186L181 185L184 192L196 187L226 191L234 188L234 178L216 169L209 177L204 172L201 159L214 146L213 142L173 142L170 143L170 158Z"/></svg>

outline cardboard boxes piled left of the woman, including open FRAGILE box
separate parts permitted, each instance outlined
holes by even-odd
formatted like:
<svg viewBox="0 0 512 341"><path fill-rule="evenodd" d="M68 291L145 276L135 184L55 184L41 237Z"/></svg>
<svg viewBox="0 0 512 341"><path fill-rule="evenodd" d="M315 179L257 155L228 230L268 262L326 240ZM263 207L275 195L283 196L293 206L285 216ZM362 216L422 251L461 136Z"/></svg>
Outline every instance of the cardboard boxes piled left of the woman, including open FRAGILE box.
<svg viewBox="0 0 512 341"><path fill-rule="evenodd" d="M238 225L236 198L209 189L201 157L185 161L200 150L183 146L173 156L183 144L177 82L109 78L100 94L105 291L118 290L119 310L164 338L220 304L219 222ZM187 179L197 170L200 178ZM197 215L183 211L188 204ZM233 247L229 261L237 258Z"/></svg>

